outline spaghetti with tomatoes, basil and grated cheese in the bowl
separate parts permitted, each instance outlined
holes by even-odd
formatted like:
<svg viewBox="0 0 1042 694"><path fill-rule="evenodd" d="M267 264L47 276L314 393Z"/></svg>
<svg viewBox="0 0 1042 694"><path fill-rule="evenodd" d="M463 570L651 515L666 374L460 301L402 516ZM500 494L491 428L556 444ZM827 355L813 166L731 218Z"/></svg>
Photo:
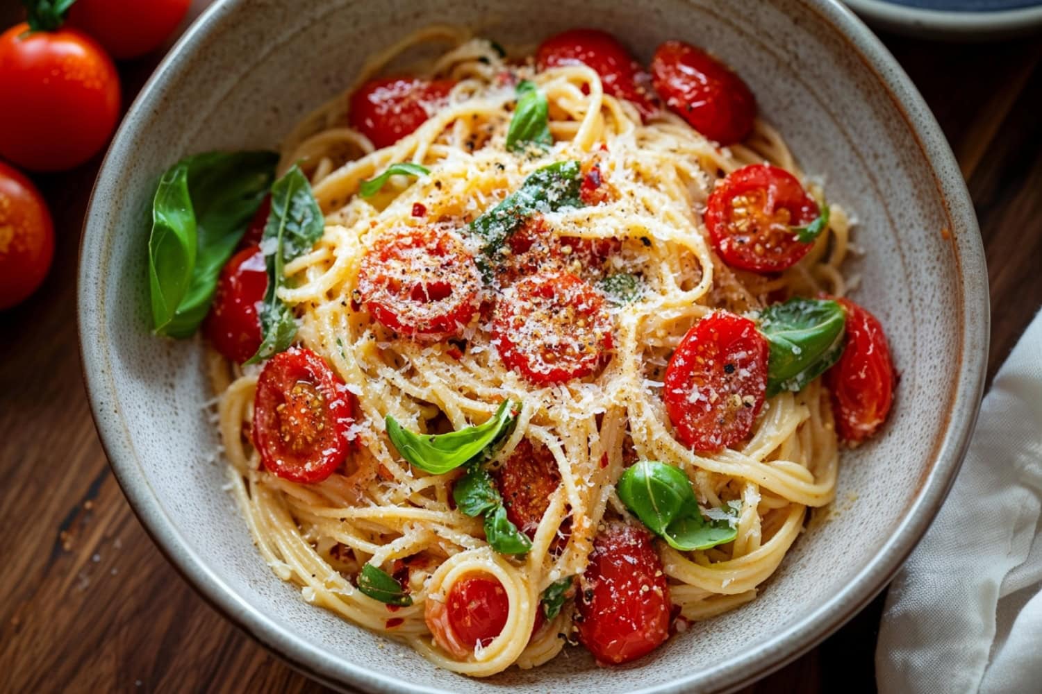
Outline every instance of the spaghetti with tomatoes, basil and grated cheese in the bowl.
<svg viewBox="0 0 1042 694"><path fill-rule="evenodd" d="M688 44L432 27L237 184L202 325L259 554L450 670L623 663L753 599L890 408L845 212Z"/></svg>

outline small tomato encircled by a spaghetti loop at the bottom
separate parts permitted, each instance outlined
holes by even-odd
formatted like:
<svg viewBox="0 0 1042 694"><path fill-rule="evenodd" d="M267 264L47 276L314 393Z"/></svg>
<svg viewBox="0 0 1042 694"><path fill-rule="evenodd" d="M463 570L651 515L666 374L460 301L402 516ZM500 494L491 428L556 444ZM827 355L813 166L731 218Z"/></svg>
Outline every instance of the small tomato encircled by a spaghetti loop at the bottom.
<svg viewBox="0 0 1042 694"><path fill-rule="evenodd" d="M444 602L428 597L424 619L435 642L447 653L464 660L499 636L510 612L502 584L487 573L477 573L452 584Z"/></svg>

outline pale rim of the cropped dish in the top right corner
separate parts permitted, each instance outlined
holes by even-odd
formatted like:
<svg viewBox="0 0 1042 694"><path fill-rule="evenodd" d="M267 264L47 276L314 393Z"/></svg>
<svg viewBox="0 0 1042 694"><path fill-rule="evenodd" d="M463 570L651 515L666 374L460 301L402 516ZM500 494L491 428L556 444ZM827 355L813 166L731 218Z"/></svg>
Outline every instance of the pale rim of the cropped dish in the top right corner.
<svg viewBox="0 0 1042 694"><path fill-rule="evenodd" d="M1042 29L1042 4L995 11L945 11L890 0L843 0L872 26L914 36L987 41Z"/></svg>

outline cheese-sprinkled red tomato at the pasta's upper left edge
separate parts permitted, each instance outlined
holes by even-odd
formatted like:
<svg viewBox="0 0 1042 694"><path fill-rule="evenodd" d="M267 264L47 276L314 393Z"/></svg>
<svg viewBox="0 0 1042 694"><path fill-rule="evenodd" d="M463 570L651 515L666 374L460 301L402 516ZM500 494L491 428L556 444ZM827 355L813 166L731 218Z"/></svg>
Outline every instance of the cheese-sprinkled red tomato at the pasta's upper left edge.
<svg viewBox="0 0 1042 694"><path fill-rule="evenodd" d="M390 147L414 132L445 105L455 82L384 77L366 82L351 95L351 127L376 148Z"/></svg>

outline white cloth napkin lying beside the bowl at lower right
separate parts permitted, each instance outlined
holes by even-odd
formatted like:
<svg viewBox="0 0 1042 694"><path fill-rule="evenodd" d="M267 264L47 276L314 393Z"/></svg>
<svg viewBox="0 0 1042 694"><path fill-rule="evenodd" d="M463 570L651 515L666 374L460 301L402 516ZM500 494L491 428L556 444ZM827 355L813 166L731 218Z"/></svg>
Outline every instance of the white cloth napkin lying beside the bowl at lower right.
<svg viewBox="0 0 1042 694"><path fill-rule="evenodd" d="M883 694L1042 692L1042 313L999 369L950 495L887 596Z"/></svg>

